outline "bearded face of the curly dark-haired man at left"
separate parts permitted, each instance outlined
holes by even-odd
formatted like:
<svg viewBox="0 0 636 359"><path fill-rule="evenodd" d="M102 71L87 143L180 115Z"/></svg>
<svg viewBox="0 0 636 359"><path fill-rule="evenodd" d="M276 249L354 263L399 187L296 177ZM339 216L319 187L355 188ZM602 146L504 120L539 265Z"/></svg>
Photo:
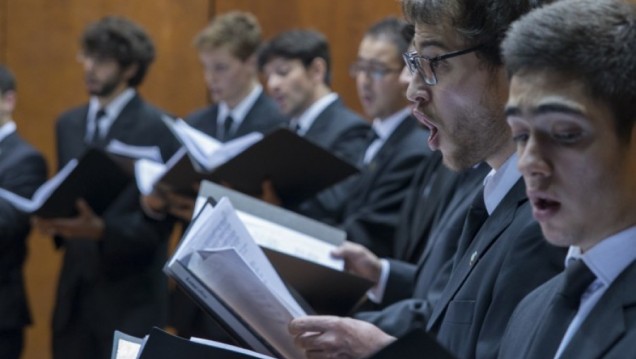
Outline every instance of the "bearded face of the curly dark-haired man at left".
<svg viewBox="0 0 636 359"><path fill-rule="evenodd" d="M123 69L114 58L81 52L77 60L84 69L84 83L92 96L110 97L126 88L133 67Z"/></svg>

